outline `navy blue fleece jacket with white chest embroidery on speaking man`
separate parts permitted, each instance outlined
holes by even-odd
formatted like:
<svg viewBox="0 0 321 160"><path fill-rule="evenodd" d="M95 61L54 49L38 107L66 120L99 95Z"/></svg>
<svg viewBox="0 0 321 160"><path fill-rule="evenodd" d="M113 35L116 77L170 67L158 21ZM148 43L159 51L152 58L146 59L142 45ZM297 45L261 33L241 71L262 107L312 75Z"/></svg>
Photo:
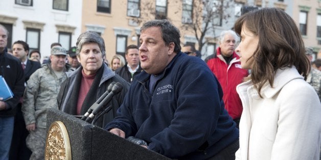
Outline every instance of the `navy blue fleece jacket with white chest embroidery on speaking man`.
<svg viewBox="0 0 321 160"><path fill-rule="evenodd" d="M150 74L138 74L105 129L119 128L170 158L209 158L238 139L222 89L201 59L180 52L158 76L150 94Z"/></svg>

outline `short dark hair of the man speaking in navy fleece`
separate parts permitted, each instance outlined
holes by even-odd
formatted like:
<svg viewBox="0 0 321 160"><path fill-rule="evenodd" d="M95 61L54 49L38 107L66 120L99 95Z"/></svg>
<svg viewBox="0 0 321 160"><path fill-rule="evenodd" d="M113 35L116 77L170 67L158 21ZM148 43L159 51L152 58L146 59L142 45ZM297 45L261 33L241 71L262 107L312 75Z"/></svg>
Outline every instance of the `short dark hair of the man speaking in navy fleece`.
<svg viewBox="0 0 321 160"><path fill-rule="evenodd" d="M141 32L151 28L152 26L159 26L162 31L162 38L165 41L165 45L174 42L174 52L178 53L181 49L180 47L180 33L179 30L167 19L163 20L150 20L143 24L141 27Z"/></svg>

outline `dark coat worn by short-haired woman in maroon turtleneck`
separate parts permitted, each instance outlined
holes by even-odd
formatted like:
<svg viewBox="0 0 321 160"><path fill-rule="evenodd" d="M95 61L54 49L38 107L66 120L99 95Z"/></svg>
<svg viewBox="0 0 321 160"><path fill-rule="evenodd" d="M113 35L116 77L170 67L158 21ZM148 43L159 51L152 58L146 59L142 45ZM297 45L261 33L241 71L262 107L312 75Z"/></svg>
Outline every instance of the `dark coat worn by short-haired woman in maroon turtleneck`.
<svg viewBox="0 0 321 160"><path fill-rule="evenodd" d="M100 83L99 83L99 87L96 91L96 95L86 95L87 96L91 96L94 99L94 102L99 99L100 96L102 96L104 94L104 92L107 91L107 87L112 83L112 82L119 82L123 85L123 89L120 93L118 93L117 95L115 95L111 102L108 103L107 106L111 105L112 106L112 110L108 113L106 113L103 118L100 118L95 125L99 126L99 127L104 127L108 122L110 122L114 117L116 117L116 112L117 109L119 108L119 106L123 103L123 99L130 87L130 84L128 82L126 82L122 77L120 77L119 75L115 74L114 72L111 71L111 69L109 69L107 67L107 65L103 64L103 74L102 77L100 79ZM76 108L77 108L77 101L78 101L78 92L79 92L79 85L81 83L81 70L82 67L79 67L78 69L76 69L73 72L66 72L67 74L67 78L66 80L61 84L60 87L60 92L58 94L57 97L57 101L58 101L58 109L70 114L70 115L76 115ZM93 83L94 84L94 83ZM92 87L92 86L91 86ZM90 88L91 88L90 87ZM76 94L74 94L73 92L75 92ZM73 95L77 95L76 97ZM84 100L83 103L88 103L88 101L90 100ZM75 102L72 103L70 105L68 105L68 102ZM87 106L84 106L84 108L81 109L81 115L84 115L86 113L86 111L88 111L88 109L90 108L90 106L93 103L90 103ZM74 106L71 106L74 105ZM67 109L67 108L74 108L74 109ZM97 115L96 115L97 116Z"/></svg>

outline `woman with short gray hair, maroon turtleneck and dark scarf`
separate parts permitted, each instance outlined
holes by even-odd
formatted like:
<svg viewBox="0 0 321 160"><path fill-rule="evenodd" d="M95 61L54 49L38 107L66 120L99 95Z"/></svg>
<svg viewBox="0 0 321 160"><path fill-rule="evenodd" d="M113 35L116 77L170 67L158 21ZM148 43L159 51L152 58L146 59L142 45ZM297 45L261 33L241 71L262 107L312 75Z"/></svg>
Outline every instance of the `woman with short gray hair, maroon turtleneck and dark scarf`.
<svg viewBox="0 0 321 160"><path fill-rule="evenodd" d="M84 32L78 37L76 45L76 56L81 67L66 72L67 78L58 94L58 108L67 114L84 115L112 82L119 82L123 90L111 99L111 112L95 123L103 127L116 116L130 84L103 63L106 49L104 39L99 34Z"/></svg>

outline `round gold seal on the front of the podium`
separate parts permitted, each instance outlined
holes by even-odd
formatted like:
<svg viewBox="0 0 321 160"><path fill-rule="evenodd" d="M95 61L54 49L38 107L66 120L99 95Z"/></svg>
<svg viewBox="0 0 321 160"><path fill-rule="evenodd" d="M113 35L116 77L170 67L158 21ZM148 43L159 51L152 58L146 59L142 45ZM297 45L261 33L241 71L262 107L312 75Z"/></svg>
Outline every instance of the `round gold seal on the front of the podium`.
<svg viewBox="0 0 321 160"><path fill-rule="evenodd" d="M72 159L72 151L68 132L60 121L53 122L45 141L44 159Z"/></svg>

